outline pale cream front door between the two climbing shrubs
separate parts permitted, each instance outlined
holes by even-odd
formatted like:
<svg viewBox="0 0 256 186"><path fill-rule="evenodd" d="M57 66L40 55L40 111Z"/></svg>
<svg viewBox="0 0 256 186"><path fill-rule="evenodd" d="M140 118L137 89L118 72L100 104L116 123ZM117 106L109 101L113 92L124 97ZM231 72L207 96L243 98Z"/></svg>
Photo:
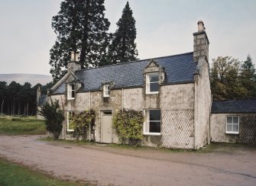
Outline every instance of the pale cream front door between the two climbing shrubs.
<svg viewBox="0 0 256 186"><path fill-rule="evenodd" d="M101 142L112 143L112 111L102 111Z"/></svg>

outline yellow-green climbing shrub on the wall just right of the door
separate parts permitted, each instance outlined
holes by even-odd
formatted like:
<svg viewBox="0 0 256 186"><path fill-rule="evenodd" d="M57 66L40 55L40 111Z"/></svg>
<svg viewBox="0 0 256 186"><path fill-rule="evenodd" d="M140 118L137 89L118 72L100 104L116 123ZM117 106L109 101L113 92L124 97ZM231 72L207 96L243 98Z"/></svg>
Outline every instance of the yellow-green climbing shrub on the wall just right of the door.
<svg viewBox="0 0 256 186"><path fill-rule="evenodd" d="M144 116L142 111L134 111L124 109L118 111L113 119L113 127L115 127L118 136L123 142L130 144L138 144L142 139L142 127Z"/></svg>

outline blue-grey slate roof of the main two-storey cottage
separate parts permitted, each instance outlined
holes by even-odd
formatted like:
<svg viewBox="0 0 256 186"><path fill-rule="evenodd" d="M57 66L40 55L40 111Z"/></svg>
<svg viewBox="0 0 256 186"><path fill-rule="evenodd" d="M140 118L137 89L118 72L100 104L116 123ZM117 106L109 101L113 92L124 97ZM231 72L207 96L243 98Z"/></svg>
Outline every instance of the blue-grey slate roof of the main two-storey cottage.
<svg viewBox="0 0 256 186"><path fill-rule="evenodd" d="M115 82L113 88L139 87L144 85L143 71L150 62L151 59L144 59L95 69L83 69L76 71L75 75L84 85L83 90L80 91L97 91L101 89L102 83L107 82ZM167 73L164 82L166 84L194 81L196 62L193 61L193 53L158 57L154 58L154 62L164 67L164 72ZM61 94L64 91L65 86L60 85L53 94Z"/></svg>

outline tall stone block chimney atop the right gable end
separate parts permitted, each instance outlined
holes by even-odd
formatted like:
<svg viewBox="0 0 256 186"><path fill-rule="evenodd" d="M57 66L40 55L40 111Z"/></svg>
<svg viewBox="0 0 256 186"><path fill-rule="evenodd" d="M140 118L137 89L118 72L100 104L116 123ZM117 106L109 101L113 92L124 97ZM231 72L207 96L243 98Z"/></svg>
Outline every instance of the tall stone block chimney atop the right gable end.
<svg viewBox="0 0 256 186"><path fill-rule="evenodd" d="M198 31L193 33L193 60L198 61L199 58L204 57L209 62L209 40L206 34L206 27L204 27L203 21L198 21L197 25Z"/></svg>

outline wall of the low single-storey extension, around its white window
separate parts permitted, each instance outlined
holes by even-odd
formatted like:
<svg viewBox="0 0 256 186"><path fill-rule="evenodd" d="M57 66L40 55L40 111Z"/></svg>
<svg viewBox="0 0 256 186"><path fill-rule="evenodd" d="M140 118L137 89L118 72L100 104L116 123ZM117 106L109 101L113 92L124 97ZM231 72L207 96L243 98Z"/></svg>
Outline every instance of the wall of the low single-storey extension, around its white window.
<svg viewBox="0 0 256 186"><path fill-rule="evenodd" d="M239 117L239 133L225 133L225 117ZM212 142L256 144L256 114L211 114Z"/></svg>

